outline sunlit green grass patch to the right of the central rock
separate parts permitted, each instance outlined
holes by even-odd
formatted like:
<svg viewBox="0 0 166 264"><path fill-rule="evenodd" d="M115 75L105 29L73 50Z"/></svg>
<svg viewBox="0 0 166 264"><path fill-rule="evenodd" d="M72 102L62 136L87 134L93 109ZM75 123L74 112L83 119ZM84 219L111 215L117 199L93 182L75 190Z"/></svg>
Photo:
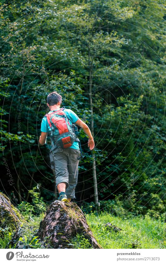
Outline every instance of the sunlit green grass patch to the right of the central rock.
<svg viewBox="0 0 166 264"><path fill-rule="evenodd" d="M86 215L97 242L103 248L165 248L165 223L149 215L122 218L102 212L99 216ZM104 224L110 222L122 231L108 231Z"/></svg>

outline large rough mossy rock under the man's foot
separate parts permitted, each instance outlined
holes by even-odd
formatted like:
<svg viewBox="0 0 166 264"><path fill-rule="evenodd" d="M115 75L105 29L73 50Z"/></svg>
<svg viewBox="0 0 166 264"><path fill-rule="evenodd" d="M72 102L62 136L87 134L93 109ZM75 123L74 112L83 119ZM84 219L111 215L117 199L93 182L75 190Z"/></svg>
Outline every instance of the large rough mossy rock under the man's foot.
<svg viewBox="0 0 166 264"><path fill-rule="evenodd" d="M92 248L102 248L94 238L82 210L74 202L54 201L40 222L37 236L48 237L52 248L73 248L71 239L82 234ZM47 243L47 248L49 244Z"/></svg>

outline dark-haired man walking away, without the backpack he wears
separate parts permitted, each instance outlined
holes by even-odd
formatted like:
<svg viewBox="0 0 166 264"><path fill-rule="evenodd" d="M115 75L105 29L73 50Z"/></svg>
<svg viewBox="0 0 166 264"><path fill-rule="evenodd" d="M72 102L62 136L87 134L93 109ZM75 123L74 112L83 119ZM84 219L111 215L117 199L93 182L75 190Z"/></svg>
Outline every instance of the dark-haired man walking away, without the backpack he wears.
<svg viewBox="0 0 166 264"><path fill-rule="evenodd" d="M54 112L60 109L62 102L62 96L57 92L52 92L47 96L47 105L50 112ZM83 131L87 134L88 147L92 150L95 146L92 134L89 127L85 124L71 109L63 110L66 116L69 118L69 123L77 124L83 128ZM49 132L49 123L47 118L44 117L41 123L41 136L39 139L40 145L44 145L46 142L47 134ZM55 165L56 174L56 187L59 192L58 200L70 202L75 198L75 187L78 179L78 157L80 155L78 141L74 141L73 145L69 148L56 148L53 151L53 159Z"/></svg>

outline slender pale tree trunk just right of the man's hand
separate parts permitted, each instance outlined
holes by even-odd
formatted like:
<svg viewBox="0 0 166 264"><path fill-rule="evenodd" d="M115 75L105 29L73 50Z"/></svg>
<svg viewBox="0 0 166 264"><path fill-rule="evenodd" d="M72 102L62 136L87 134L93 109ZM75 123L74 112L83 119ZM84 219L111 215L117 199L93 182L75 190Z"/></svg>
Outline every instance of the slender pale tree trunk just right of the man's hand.
<svg viewBox="0 0 166 264"><path fill-rule="evenodd" d="M91 133L94 138L94 126L93 126L93 102L92 102L92 77L93 77L93 59L90 61L90 49L89 49L89 100L90 100L90 111L91 111ZM95 199L95 208L97 210L98 206L98 193L97 193L97 177L96 177L96 159L95 159L95 150L92 150L92 160L93 160L93 188L94 188L94 199Z"/></svg>

